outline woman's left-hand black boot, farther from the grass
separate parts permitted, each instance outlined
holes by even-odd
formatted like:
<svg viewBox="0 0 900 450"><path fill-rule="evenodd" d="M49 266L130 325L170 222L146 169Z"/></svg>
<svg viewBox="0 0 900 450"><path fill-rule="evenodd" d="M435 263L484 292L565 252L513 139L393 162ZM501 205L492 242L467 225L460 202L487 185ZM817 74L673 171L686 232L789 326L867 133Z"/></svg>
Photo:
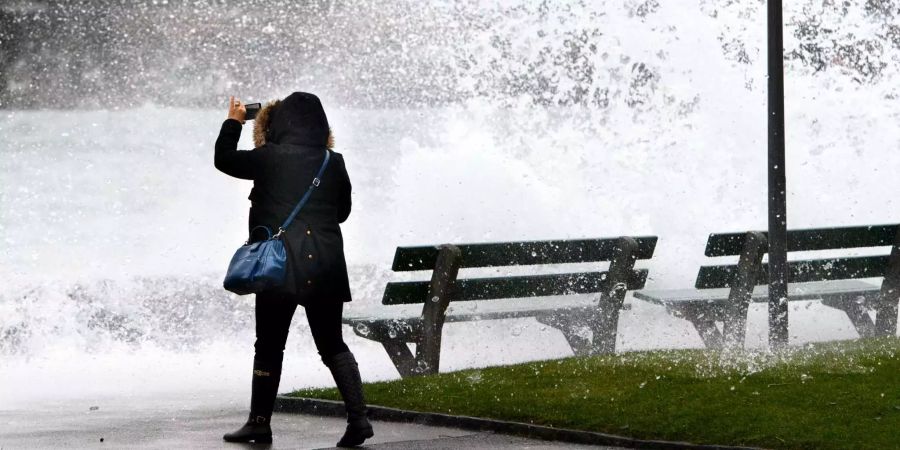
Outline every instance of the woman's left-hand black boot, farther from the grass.
<svg viewBox="0 0 900 450"><path fill-rule="evenodd" d="M244 426L222 436L222 439L228 442L272 442L272 427L269 422L272 419L272 409L275 407L275 396L278 394L280 380L280 365L253 361L250 418Z"/></svg>

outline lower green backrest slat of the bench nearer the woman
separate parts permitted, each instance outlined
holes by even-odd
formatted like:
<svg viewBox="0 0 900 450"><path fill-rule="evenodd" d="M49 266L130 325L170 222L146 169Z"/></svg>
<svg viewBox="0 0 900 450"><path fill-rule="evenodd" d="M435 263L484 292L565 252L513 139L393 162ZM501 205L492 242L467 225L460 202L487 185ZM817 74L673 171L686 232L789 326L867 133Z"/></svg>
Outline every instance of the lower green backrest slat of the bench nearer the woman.
<svg viewBox="0 0 900 450"><path fill-rule="evenodd" d="M488 300L600 292L606 276L606 272L583 272L460 279L456 280L451 300ZM635 270L627 281L628 289L641 289L646 281L647 270ZM384 305L424 303L428 296L429 284L428 281L388 283L381 303Z"/></svg>

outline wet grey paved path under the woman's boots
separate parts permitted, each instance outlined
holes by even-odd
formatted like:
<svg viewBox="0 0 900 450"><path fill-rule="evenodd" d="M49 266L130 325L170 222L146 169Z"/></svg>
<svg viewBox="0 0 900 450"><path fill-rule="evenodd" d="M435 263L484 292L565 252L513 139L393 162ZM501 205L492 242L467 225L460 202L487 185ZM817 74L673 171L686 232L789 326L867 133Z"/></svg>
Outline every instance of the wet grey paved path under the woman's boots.
<svg viewBox="0 0 900 450"><path fill-rule="evenodd" d="M239 449L330 448L340 438L342 419L276 414L273 445L229 444L222 434L246 419L233 405L180 403L175 400L103 402L91 410L85 402L61 402L28 410L0 411L0 449ZM602 448L536 441L493 433L416 424L375 422L376 436L366 442L377 449L459 448Z"/></svg>

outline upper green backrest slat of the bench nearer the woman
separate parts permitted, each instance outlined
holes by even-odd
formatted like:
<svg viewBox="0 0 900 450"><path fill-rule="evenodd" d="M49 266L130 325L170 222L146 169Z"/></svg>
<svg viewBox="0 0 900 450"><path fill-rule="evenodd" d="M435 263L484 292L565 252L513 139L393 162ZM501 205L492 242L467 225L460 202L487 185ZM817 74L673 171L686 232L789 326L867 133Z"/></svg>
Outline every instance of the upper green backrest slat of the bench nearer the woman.
<svg viewBox="0 0 900 450"><path fill-rule="evenodd" d="M488 244L459 244L462 252L460 267L500 267L532 264L565 264L609 261L615 256L616 241L610 239L576 239L557 241L523 241ZM635 237L637 259L648 259L656 249L655 236ZM395 272L432 270L438 246L397 247Z"/></svg>

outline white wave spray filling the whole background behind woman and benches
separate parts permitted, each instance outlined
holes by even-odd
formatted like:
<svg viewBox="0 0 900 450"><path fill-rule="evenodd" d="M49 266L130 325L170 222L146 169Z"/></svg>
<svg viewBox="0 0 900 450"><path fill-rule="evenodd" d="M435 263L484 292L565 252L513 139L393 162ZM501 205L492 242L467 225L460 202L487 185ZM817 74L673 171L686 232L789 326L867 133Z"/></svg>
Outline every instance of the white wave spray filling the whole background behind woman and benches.
<svg viewBox="0 0 900 450"><path fill-rule="evenodd" d="M252 298L219 283L249 184L212 167L229 93L320 93L354 185L348 314L378 308L398 245L658 235L650 286L677 288L708 233L765 228L761 3L158 3L99 22L0 7L0 30L55 36L30 52L0 31L0 404L244 386ZM897 221L875 200L900 188L895 18L850 5L786 11L791 227ZM128 34L169 16L147 22L168 24L164 41ZM793 302L791 321L794 342L855 336L815 303ZM759 346L765 311L750 322ZM540 330L451 324L442 370L569 354ZM345 335L367 379L396 376ZM302 311L291 336L283 389L324 384ZM619 348L698 345L660 308L622 314Z"/></svg>

